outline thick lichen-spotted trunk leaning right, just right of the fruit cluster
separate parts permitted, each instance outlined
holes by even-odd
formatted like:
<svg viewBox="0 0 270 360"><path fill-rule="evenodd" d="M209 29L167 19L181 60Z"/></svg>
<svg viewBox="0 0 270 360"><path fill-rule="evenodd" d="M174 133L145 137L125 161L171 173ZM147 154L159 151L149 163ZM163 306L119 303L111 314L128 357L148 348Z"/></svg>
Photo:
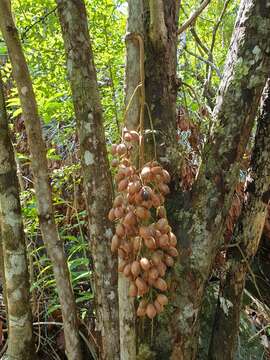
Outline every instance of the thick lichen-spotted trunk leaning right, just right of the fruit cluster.
<svg viewBox="0 0 270 360"><path fill-rule="evenodd" d="M270 12L261 0L243 0L214 111L214 132L199 176L176 213L181 252L175 289L172 359L195 359L198 314L211 266L269 72Z"/></svg>

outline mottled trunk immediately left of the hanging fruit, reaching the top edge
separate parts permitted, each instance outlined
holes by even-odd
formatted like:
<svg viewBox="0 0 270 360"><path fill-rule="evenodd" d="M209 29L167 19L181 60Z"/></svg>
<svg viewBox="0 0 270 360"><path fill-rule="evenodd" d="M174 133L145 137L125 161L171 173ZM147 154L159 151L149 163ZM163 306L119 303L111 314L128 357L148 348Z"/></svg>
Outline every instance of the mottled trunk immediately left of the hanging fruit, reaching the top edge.
<svg viewBox="0 0 270 360"><path fill-rule="evenodd" d="M107 217L113 189L86 9L83 0L57 0L57 4L80 141L100 358L119 359L117 259L110 250L113 225Z"/></svg>

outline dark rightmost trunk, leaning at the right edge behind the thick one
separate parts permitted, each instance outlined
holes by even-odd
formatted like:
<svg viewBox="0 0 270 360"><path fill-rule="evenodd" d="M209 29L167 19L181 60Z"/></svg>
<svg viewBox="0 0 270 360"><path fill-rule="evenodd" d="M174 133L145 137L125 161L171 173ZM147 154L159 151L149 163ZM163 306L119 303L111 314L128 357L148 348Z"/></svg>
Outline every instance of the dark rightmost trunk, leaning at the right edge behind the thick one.
<svg viewBox="0 0 270 360"><path fill-rule="evenodd" d="M239 320L246 273L255 256L270 199L270 80L263 95L251 159L252 182L248 201L236 225L232 248L228 251L229 270L221 285L219 303L210 345L209 359L233 360L238 345Z"/></svg>

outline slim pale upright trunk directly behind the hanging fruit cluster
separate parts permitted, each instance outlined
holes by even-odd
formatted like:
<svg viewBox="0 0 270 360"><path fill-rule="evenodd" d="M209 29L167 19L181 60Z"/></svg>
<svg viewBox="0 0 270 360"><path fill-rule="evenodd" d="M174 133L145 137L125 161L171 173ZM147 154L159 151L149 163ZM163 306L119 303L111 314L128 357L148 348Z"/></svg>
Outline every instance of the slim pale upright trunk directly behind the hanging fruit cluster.
<svg viewBox="0 0 270 360"><path fill-rule="evenodd" d="M125 74L125 126L129 130L137 130L140 117L140 47L136 36L143 37L143 1L128 1L128 21L126 34L126 74ZM134 161L137 161L136 149ZM120 273L118 279L120 349L121 359L136 358L136 326L134 299L128 295L129 282Z"/></svg>

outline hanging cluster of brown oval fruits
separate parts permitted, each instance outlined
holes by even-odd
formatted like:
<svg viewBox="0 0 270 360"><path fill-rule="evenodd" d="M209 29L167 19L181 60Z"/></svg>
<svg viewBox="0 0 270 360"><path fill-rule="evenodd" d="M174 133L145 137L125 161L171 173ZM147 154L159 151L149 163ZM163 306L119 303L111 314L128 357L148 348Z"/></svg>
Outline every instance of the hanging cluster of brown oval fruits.
<svg viewBox="0 0 270 360"><path fill-rule="evenodd" d="M163 206L170 174L157 161L140 169L132 165L133 142L140 142L140 135L124 129L122 143L112 146L118 195L108 215L116 222L111 250L118 252L119 272L130 280L129 295L140 299L137 315L152 319L168 303L164 277L178 256Z"/></svg>

